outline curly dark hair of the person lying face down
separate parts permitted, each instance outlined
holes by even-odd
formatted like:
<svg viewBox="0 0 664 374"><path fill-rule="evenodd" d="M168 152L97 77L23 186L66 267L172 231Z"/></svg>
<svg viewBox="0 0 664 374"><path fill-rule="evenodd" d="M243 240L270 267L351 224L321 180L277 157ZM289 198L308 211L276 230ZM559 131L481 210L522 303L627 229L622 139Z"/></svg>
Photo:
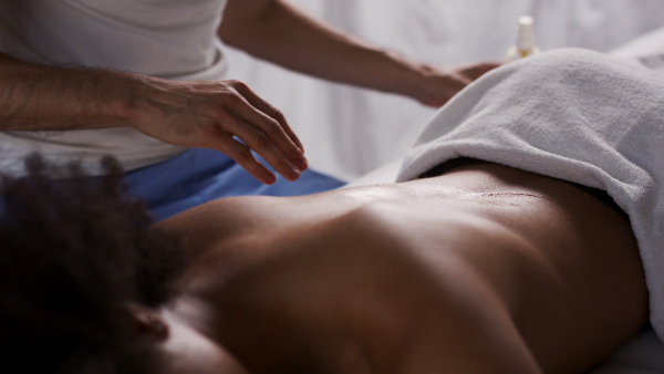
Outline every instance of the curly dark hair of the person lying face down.
<svg viewBox="0 0 664 374"><path fill-rule="evenodd" d="M39 155L25 165L0 187L0 372L156 372L125 305L168 300L184 250L124 196L114 159L94 178Z"/></svg>

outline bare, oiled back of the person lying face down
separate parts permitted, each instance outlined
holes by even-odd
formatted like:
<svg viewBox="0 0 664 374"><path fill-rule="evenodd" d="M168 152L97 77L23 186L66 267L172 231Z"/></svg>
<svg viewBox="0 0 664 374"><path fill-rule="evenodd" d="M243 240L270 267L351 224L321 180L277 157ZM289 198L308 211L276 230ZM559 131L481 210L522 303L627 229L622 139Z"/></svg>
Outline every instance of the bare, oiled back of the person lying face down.
<svg viewBox="0 0 664 374"><path fill-rule="evenodd" d="M288 311L264 329L302 330L305 345L320 347L310 355L336 362L340 372L392 367L394 350L403 356L394 373L481 373L464 366L480 365L478 357L488 372L583 372L646 316L629 222L567 183L494 164L297 198L222 199L159 227L186 237L196 252L185 280L193 292L224 304L234 320L229 300L256 304L269 290ZM248 323L240 314L232 325ZM246 361L260 351L273 367L264 351L237 343L240 332L229 325L219 328L225 345ZM319 342L308 331L332 337ZM343 339L329 331L344 331ZM405 331L419 333L406 339ZM393 341L411 343L396 349L386 343Z"/></svg>

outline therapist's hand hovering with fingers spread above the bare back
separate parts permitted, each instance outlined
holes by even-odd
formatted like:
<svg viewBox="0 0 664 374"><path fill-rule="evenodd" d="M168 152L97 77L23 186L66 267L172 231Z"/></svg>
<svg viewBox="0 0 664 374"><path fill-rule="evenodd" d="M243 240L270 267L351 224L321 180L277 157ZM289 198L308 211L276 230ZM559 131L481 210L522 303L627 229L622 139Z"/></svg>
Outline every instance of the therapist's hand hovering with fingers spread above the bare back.
<svg viewBox="0 0 664 374"><path fill-rule="evenodd" d="M133 116L134 127L144 134L174 145L217 149L264 184L276 177L251 150L288 180L307 169L302 144L283 115L246 84L153 77L144 83Z"/></svg>

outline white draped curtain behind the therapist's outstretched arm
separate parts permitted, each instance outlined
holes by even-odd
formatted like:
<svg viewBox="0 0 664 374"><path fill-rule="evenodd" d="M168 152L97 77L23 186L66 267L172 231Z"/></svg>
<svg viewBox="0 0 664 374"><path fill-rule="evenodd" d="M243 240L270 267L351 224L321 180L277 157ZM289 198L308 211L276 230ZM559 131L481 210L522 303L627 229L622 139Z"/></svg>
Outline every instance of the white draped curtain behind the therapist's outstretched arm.
<svg viewBox="0 0 664 374"><path fill-rule="evenodd" d="M542 50L610 51L664 27L663 0L290 0L376 45L432 64L500 61L531 14ZM229 77L279 107L311 165L351 179L401 156L434 110L294 74L228 49Z"/></svg>

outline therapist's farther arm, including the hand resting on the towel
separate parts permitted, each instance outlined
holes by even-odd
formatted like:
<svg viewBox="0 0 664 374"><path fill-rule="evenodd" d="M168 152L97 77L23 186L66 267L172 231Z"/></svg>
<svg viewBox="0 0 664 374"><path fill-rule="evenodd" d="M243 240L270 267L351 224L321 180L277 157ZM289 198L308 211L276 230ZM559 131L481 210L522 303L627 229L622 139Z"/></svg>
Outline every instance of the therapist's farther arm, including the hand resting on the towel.
<svg viewBox="0 0 664 374"><path fill-rule="evenodd" d="M433 67L373 48L282 0L230 0L221 39L257 58L318 77L442 105L496 66Z"/></svg>

